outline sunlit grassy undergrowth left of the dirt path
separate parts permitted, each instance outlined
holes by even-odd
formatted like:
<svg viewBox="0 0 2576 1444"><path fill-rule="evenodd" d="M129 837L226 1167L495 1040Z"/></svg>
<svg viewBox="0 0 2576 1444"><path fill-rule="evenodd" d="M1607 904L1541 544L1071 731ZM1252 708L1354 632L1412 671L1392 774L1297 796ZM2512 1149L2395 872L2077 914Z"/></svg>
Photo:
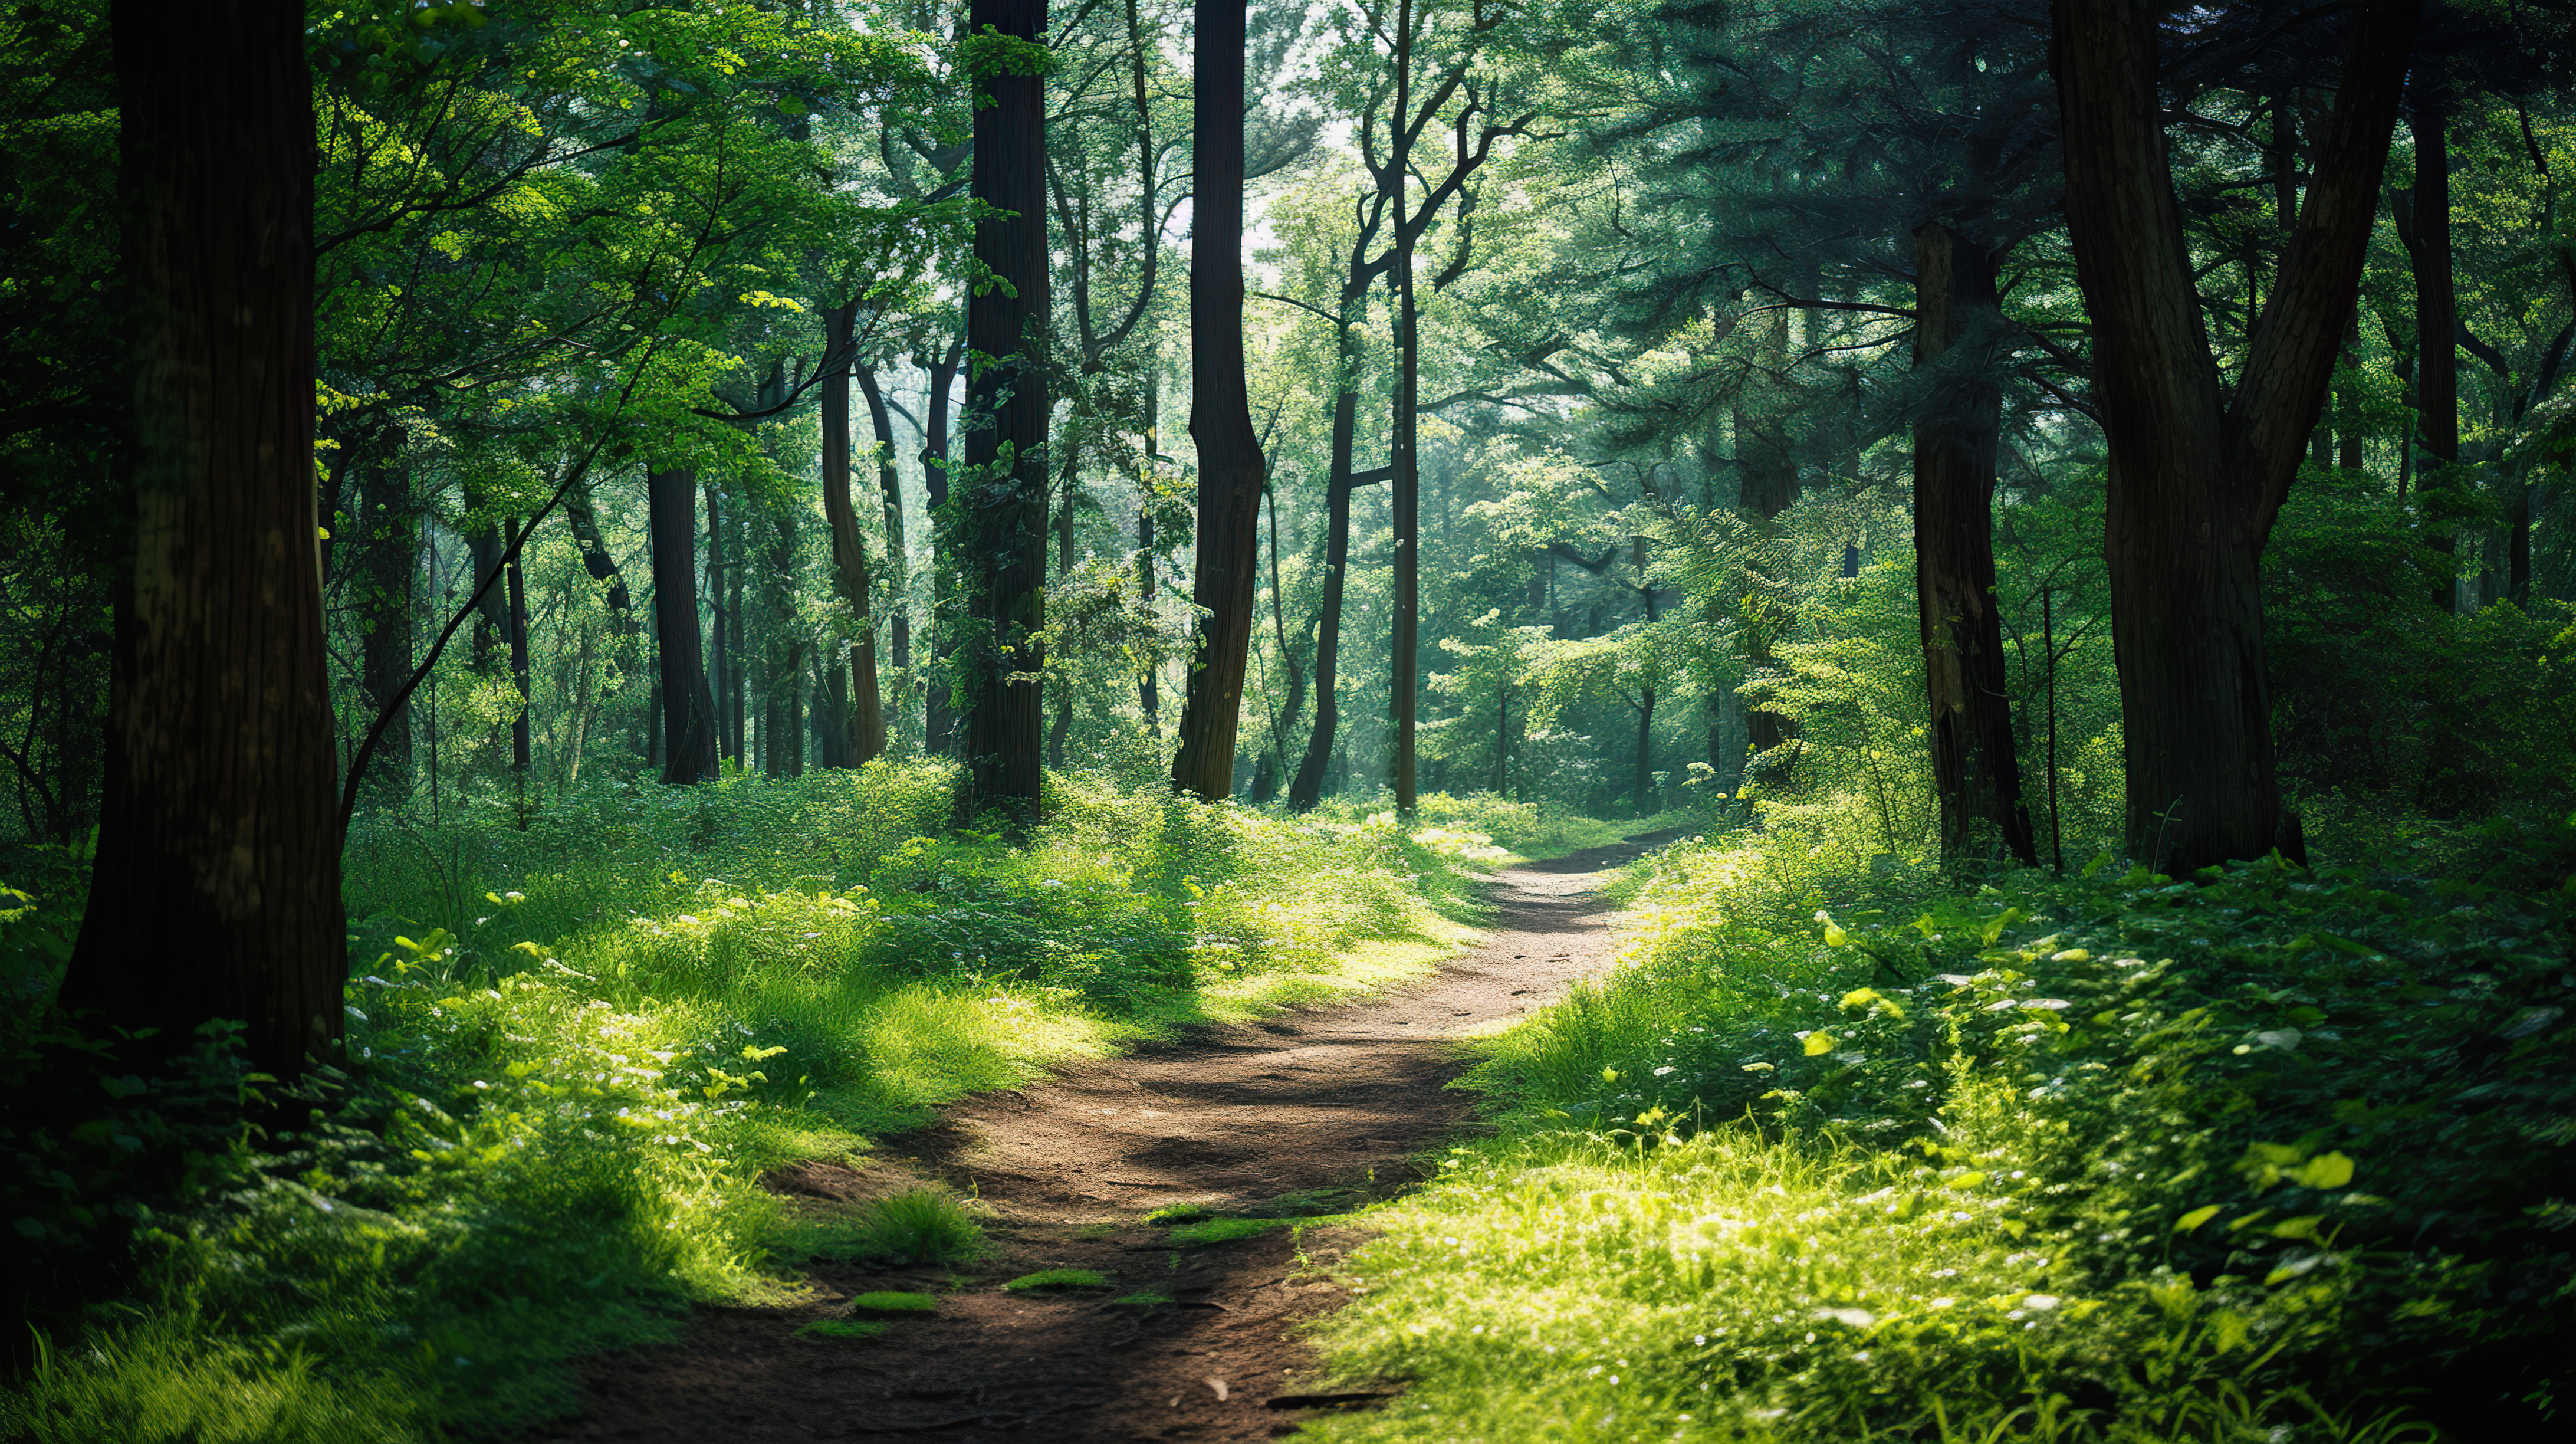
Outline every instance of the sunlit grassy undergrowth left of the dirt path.
<svg viewBox="0 0 2576 1444"><path fill-rule="evenodd" d="M853 1160L1064 1060L1419 972L1455 944L1461 854L1484 846L1090 776L1054 779L1048 823L1005 841L943 830L948 784L868 766L600 789L526 830L371 820L348 1068L270 1091L263 1129L227 1122L260 1086L219 1037L129 1078L59 1021L15 1024L0 1163L28 1184L0 1204L44 1331L0 1436L523 1426L569 1403L572 1356L791 1287L781 1258L814 1225L765 1171ZM13 988L49 977L77 918L59 861L49 897L0 913Z"/></svg>

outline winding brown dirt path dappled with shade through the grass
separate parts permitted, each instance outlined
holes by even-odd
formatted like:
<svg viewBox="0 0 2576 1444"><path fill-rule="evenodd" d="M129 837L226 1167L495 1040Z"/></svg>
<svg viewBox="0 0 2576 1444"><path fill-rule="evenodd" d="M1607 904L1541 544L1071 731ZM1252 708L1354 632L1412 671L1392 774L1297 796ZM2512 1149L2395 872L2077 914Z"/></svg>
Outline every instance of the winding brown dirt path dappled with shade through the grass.
<svg viewBox="0 0 2576 1444"><path fill-rule="evenodd" d="M788 1191L863 1199L920 1176L974 1189L1002 1253L948 1292L951 1271L819 1264L817 1302L706 1310L683 1341L598 1359L580 1418L538 1441L783 1444L806 1439L1275 1439L1296 1431L1293 1325L1334 1307L1332 1266L1363 1235L1270 1230L1175 1251L1141 1215L1195 1202L1218 1215L1350 1209L1412 1184L1417 1158L1471 1127L1440 1047L1525 1013L1610 959L1595 877L1664 841L1592 848L1504 872L1484 941L1396 995L1200 1029L1051 1083L984 1093L866 1171L806 1166ZM1005 1294L1036 1269L1097 1269L1113 1294ZM793 1331L868 1289L940 1292L940 1312L873 1343ZM1314 1408L1370 1408L1352 1400Z"/></svg>

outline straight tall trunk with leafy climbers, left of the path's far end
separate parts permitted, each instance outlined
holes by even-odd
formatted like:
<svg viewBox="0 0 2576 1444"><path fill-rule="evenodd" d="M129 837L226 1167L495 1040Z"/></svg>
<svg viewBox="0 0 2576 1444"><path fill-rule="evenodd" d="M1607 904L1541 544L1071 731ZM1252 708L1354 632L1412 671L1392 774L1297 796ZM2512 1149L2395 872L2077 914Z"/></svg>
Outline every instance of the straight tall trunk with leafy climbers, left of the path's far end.
<svg viewBox="0 0 2576 1444"><path fill-rule="evenodd" d="M1046 39L1046 0L971 0L974 34ZM966 299L966 348L992 361L966 389L961 570L974 639L966 660L966 786L958 812L1033 820L1046 725L1038 632L1046 627L1046 93L1038 75L992 75L974 116L974 199L1007 211L974 227L974 255L999 286Z"/></svg>

